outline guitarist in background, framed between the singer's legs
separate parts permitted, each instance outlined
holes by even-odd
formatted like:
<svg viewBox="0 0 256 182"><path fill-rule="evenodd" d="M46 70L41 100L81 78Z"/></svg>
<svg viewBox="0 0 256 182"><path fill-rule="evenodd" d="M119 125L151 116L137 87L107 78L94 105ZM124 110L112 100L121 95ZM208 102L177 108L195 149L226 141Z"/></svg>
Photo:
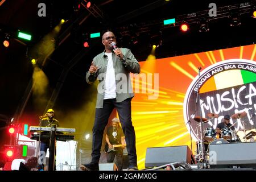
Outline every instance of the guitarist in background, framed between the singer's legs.
<svg viewBox="0 0 256 182"><path fill-rule="evenodd" d="M114 147L118 145L119 147ZM107 162L113 163L116 160L117 168L122 171L123 168L123 148L125 148L125 135L122 128L119 126L119 119L112 119L112 126L109 126L106 131L106 147Z"/></svg>

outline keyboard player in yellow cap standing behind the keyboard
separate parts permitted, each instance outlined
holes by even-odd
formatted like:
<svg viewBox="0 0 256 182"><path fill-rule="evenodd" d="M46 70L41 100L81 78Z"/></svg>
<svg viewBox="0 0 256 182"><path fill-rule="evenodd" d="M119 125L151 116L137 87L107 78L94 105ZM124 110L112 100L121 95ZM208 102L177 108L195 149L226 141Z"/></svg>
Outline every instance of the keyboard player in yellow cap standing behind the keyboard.
<svg viewBox="0 0 256 182"><path fill-rule="evenodd" d="M54 118L54 110L53 109L48 109L47 113L43 116L43 117L39 117L40 118L40 126L44 126L44 127L51 127L51 125L55 124L56 127L60 127L60 123L59 121L57 121L57 119ZM42 132L41 135L44 134L49 134L48 132ZM49 139L40 139L40 153L39 153L39 165L38 165L38 169L39 170L44 170L44 164L43 162L46 159L46 152L47 149L49 148ZM55 148L55 155L56 155L56 148ZM55 162L56 163L56 162ZM56 171L56 165L54 166L54 169Z"/></svg>

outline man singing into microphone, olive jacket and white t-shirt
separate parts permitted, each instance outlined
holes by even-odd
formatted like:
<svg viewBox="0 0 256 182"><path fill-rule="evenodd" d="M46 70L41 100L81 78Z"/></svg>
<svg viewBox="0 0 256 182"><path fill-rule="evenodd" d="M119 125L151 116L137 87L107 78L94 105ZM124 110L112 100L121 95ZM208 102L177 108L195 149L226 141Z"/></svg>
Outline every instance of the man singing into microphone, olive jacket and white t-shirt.
<svg viewBox="0 0 256 182"><path fill-rule="evenodd" d="M127 48L117 48L113 32L102 35L104 52L94 57L86 82L100 81L93 126L92 162L81 166L82 170L98 170L104 128L114 107L117 109L129 156L129 170L138 170L135 147L135 131L131 122L131 99L134 97L129 73L141 72L133 53Z"/></svg>

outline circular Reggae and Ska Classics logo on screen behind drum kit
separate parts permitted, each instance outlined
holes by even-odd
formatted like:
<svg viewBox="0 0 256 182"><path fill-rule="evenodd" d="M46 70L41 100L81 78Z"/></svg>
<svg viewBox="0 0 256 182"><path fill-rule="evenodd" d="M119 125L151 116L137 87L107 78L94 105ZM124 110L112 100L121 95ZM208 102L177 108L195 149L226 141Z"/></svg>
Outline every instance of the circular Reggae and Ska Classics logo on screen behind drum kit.
<svg viewBox="0 0 256 182"><path fill-rule="evenodd" d="M216 129L224 115L229 114L236 131L250 130L255 129L255 110L255 61L231 59L205 68L200 78L197 75L185 94L183 114L193 139L201 140L200 121L206 132ZM246 114L237 117L240 113Z"/></svg>

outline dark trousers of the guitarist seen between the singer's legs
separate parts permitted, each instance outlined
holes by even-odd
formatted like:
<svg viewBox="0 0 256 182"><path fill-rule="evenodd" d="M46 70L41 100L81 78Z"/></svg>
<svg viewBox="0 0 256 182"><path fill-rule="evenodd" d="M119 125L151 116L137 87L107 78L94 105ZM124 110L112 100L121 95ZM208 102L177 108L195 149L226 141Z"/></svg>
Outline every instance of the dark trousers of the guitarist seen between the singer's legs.
<svg viewBox="0 0 256 182"><path fill-rule="evenodd" d="M111 151L107 154L107 162L113 163L115 159L115 164L119 171L123 169L123 148L119 147L116 151Z"/></svg>

